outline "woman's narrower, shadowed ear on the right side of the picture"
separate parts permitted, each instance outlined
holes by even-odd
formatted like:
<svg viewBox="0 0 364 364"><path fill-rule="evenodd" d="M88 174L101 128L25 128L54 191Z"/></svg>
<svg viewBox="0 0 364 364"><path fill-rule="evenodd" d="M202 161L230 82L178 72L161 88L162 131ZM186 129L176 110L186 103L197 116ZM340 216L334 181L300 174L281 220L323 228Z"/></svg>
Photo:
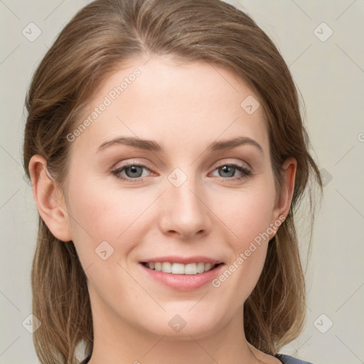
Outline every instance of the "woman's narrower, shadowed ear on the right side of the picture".
<svg viewBox="0 0 364 364"><path fill-rule="evenodd" d="M274 210L272 213L273 220L271 221L271 226L273 224L272 227L275 228L274 233L271 234L269 239L272 239L272 237L274 237L279 225L283 223L284 219L289 213L289 208L291 207L291 200L294 193L294 179L296 177L297 169L296 159L294 159L293 157L287 158L286 161L284 161L282 168L282 195L277 196L274 204ZM280 221L278 226L277 221Z"/></svg>

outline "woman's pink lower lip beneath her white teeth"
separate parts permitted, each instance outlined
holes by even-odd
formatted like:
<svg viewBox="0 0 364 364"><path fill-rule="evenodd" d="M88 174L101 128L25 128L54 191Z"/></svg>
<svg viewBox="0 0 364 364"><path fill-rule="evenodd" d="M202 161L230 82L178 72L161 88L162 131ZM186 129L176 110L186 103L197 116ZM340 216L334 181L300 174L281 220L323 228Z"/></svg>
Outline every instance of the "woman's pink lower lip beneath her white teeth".
<svg viewBox="0 0 364 364"><path fill-rule="evenodd" d="M180 291L192 291L198 289L204 284L211 282L220 273L225 264L220 264L218 267L209 270L208 272L198 274L173 274L164 273L157 270L149 269L143 264L139 263L149 277L159 281L166 286Z"/></svg>

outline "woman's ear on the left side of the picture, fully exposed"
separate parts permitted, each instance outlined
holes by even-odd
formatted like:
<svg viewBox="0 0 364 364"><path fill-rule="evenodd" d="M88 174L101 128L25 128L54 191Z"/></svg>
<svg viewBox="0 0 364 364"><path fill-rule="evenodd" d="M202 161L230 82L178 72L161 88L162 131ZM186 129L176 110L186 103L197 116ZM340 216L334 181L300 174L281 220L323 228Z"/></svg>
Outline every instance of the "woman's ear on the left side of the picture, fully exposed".
<svg viewBox="0 0 364 364"><path fill-rule="evenodd" d="M61 189L47 170L47 161L40 155L34 155L29 161L29 173L33 198L38 213L45 225L59 240L72 240L65 199Z"/></svg>

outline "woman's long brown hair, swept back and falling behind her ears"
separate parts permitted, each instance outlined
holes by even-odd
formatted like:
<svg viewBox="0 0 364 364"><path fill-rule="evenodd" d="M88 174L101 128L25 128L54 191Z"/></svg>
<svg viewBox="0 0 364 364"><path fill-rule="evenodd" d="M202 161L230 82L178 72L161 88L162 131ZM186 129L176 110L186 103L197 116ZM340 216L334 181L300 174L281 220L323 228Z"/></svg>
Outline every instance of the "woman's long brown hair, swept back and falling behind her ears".
<svg viewBox="0 0 364 364"><path fill-rule="evenodd" d="M277 192L282 164L297 160L291 208L269 242L267 259L244 306L247 341L277 353L301 332L305 314L304 273L294 212L304 196L311 223L311 176L322 183L309 154L309 137L289 68L255 21L219 0L97 0L81 9L60 32L33 75L26 108L23 164L40 154L65 189L72 132L82 109L108 75L138 55L171 55L183 62L220 65L252 87L264 110ZM78 119L79 120L79 119ZM304 195L304 191L307 193ZM311 235L310 235L311 241ZM77 363L77 345L92 352L93 329L86 277L73 242L55 238L39 217L31 274L33 334L43 364Z"/></svg>

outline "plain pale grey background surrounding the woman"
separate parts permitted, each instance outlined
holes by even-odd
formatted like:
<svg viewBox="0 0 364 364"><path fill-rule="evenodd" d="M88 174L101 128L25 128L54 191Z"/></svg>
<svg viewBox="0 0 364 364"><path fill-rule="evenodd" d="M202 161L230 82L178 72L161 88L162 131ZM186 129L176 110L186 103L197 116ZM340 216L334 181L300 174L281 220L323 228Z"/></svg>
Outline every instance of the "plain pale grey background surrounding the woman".
<svg viewBox="0 0 364 364"><path fill-rule="evenodd" d="M21 166L24 97L55 36L89 2L0 0L0 364L39 363L25 328L37 213ZM326 181L306 269L306 328L282 352L316 364L364 363L364 1L229 2L287 61ZM35 41L22 33L31 22L41 29ZM299 235L305 260L307 234Z"/></svg>

